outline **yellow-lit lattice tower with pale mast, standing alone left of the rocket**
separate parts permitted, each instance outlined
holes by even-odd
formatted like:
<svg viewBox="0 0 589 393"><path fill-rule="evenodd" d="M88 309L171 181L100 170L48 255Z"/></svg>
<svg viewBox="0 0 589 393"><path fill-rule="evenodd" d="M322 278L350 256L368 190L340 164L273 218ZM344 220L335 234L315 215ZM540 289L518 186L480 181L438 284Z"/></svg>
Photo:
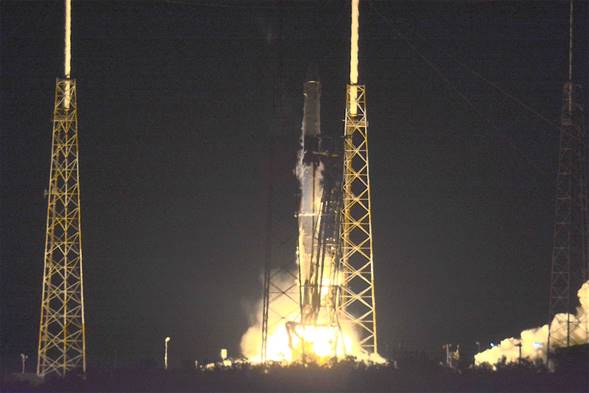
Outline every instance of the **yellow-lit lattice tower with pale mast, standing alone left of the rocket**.
<svg viewBox="0 0 589 393"><path fill-rule="evenodd" d="M37 374L86 371L78 107L71 79L71 0L65 0L65 78L55 85Z"/></svg>

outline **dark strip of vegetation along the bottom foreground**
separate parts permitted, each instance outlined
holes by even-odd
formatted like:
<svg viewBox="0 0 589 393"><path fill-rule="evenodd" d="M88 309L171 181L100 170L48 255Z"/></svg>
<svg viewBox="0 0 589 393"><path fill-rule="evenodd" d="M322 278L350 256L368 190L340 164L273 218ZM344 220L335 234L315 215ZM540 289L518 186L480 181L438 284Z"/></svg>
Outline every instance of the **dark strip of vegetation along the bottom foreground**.
<svg viewBox="0 0 589 393"><path fill-rule="evenodd" d="M462 370L441 367L415 357L398 367L365 366L343 361L331 367L292 365L269 367L238 365L211 370L161 369L90 370L85 378L4 381L2 391L14 392L586 392L587 359L561 359L566 367L549 372L524 362Z"/></svg>

